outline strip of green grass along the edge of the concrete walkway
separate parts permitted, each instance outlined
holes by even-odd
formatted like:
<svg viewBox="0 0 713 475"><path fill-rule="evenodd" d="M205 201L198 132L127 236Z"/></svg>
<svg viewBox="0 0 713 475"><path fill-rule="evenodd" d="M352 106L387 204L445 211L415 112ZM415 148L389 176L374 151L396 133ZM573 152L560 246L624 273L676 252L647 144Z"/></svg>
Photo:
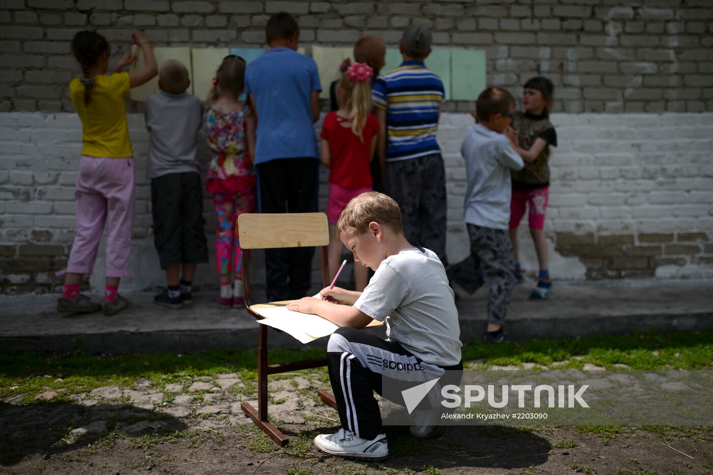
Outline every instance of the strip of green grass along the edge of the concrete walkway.
<svg viewBox="0 0 713 475"><path fill-rule="evenodd" d="M579 355L580 359L572 359ZM324 350L305 352L275 349L270 362L289 362L323 357ZM671 334L637 333L617 337L588 337L569 340L534 339L498 345L469 344L463 347L463 361L480 360L477 368L493 364L521 365L532 362L548 366L566 362L561 368L581 368L585 363L614 369L627 364L630 369L701 369L713 361L713 332ZM241 392L255 392L257 371L255 352L214 350L197 354L130 354L112 357L87 356L73 352L60 356L41 353L0 354L0 398L21 395L21 404L45 404L34 397L45 390L58 392L51 402L68 402L74 394L96 387L116 385L130 388L138 380L152 387L180 383L184 387L196 377L236 372L245 384ZM326 369L309 373L317 380L329 379ZM14 388L14 389L13 389ZM175 394L167 394L168 402Z"/></svg>

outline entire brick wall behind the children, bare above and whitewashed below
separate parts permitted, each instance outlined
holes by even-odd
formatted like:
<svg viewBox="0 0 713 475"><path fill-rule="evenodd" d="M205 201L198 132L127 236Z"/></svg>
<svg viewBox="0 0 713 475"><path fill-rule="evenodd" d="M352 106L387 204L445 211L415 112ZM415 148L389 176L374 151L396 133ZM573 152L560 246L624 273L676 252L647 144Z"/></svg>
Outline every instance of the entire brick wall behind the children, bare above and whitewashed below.
<svg viewBox="0 0 713 475"><path fill-rule="evenodd" d="M553 275L713 275L713 0L0 0L0 292L51 290L73 239L81 146L66 87L78 74L73 34L98 29L115 58L135 27L155 46L257 47L277 11L297 16L308 51L351 46L363 34L396 46L405 26L422 23L436 47L485 49L488 83L515 96L530 76L552 78L560 147L545 230ZM458 149L472 119L467 102L443 108L438 140L455 261L468 249ZM163 277L150 232L143 118L131 113L129 122L139 170L134 279L122 288L143 290ZM323 184L322 209L326 193ZM205 217L210 242L208 200ZM535 271L525 223L521 232L523 265ZM201 266L198 280L215 282L213 274Z"/></svg>

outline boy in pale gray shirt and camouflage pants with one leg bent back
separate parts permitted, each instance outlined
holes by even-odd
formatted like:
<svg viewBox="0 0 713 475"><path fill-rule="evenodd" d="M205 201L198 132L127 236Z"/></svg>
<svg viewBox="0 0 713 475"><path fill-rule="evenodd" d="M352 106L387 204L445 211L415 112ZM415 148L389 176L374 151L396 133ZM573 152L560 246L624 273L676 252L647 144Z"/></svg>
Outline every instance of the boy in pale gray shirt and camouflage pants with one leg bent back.
<svg viewBox="0 0 713 475"><path fill-rule="evenodd" d="M487 88L478 96L474 116L478 123L461 146L466 160L468 188L463 216L471 240L471 255L448 268L448 277L468 292L482 285L490 290L488 328L483 342L505 340L510 296L515 285L510 220L510 170L525 165L505 133L515 111L515 99L505 89Z"/></svg>

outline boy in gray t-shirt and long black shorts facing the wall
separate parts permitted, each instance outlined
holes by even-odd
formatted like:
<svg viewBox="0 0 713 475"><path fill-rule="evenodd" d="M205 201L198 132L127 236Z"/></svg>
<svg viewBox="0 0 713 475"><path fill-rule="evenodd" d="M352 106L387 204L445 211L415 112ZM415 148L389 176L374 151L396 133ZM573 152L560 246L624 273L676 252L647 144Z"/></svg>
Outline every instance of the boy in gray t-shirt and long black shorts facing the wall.
<svg viewBox="0 0 713 475"><path fill-rule="evenodd" d="M158 86L161 92L149 96L145 104L149 132L146 175L151 180L153 242L168 289L156 295L154 302L178 309L193 303L196 265L208 261L196 160L202 105L200 99L185 92L190 86L188 69L178 61L163 63Z"/></svg>

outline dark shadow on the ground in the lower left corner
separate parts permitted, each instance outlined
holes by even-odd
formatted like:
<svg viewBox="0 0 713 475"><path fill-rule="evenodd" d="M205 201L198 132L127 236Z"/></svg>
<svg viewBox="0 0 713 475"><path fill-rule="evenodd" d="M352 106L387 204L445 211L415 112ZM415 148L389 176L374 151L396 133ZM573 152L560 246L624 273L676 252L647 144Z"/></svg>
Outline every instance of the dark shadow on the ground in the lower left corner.
<svg viewBox="0 0 713 475"><path fill-rule="evenodd" d="M183 431L175 417L127 404L91 407L64 402L18 405L0 402L0 465L14 465L34 454L45 459L96 444L114 431L140 437Z"/></svg>

